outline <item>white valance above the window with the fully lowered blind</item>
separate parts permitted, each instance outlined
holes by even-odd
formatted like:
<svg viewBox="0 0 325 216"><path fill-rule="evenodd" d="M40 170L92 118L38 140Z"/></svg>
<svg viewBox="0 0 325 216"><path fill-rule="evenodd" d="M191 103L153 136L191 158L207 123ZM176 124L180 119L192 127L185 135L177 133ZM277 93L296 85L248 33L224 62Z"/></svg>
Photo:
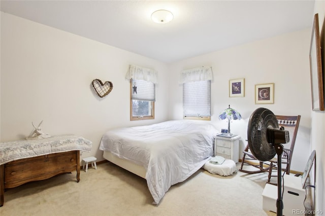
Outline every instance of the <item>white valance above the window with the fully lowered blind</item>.
<svg viewBox="0 0 325 216"><path fill-rule="evenodd" d="M179 83L212 80L211 66L203 66L181 71Z"/></svg>

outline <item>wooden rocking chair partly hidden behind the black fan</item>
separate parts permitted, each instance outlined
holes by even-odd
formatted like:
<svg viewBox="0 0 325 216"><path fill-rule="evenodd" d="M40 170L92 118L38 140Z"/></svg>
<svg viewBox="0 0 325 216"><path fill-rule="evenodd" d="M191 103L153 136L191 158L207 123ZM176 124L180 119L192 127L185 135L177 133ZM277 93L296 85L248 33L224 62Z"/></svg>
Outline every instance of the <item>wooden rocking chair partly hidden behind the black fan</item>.
<svg viewBox="0 0 325 216"><path fill-rule="evenodd" d="M291 165L291 159L294 152L295 142L296 142L296 136L298 132L298 127L300 123L300 115L298 116L279 116L276 115L276 118L278 120L279 127L284 127L285 130L289 131L289 142L283 144L283 153L282 153L282 164L281 168L286 173L289 174L290 172L290 165ZM249 151L249 146L247 144L245 150L243 151L244 155L242 158L242 163L239 171L245 172L245 173L259 173L259 172L269 172L268 175L268 183L270 183L271 177L277 176L272 174L273 170L277 170L277 159L273 158L270 161L258 161L253 154ZM253 161L255 160L255 162ZM257 170L247 170L243 169L244 165L250 165Z"/></svg>

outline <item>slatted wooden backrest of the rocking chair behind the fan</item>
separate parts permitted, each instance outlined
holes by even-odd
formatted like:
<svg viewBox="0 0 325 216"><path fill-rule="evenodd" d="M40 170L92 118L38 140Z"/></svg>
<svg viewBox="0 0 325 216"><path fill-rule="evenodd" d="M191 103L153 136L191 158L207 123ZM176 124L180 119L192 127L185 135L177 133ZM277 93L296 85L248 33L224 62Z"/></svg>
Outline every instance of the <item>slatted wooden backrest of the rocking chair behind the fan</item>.
<svg viewBox="0 0 325 216"><path fill-rule="evenodd" d="M296 136L298 132L298 127L300 123L300 115L298 116L279 116L275 115L276 119L278 120L279 127L284 127L284 130L289 131L289 142L284 143L283 148L289 151L286 151L288 153L287 155L287 167L286 170L290 170L290 164L291 164L291 158L292 153L295 148L295 142L296 142Z"/></svg>

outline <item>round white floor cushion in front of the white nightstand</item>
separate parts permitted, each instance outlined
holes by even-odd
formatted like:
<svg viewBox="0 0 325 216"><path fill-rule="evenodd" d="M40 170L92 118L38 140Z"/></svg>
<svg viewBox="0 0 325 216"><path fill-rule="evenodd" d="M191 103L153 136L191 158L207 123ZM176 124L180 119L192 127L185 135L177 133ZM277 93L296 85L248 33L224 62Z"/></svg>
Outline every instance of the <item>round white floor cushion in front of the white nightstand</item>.
<svg viewBox="0 0 325 216"><path fill-rule="evenodd" d="M223 176L232 175L234 172L237 172L236 163L230 159L225 159L222 164L213 164L208 160L203 168L212 174Z"/></svg>

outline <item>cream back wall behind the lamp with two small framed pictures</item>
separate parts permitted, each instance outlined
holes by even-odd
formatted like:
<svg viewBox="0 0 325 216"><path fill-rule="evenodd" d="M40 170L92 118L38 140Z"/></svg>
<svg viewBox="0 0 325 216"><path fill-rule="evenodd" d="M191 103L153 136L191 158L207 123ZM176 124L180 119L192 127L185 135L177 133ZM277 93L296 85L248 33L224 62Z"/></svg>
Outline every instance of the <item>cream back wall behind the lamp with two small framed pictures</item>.
<svg viewBox="0 0 325 216"><path fill-rule="evenodd" d="M266 107L276 115L301 115L291 169L303 171L310 152L311 88L309 75L310 29L216 51L170 65L170 119L182 118L183 69L211 65L211 121L217 129L227 128L218 119L228 107L240 112L242 120L231 123L231 132L241 136L240 153L246 145L247 124L257 107ZM245 78L245 97L229 97L229 80ZM274 83L274 104L255 104L255 84ZM240 158L241 158L240 157Z"/></svg>

